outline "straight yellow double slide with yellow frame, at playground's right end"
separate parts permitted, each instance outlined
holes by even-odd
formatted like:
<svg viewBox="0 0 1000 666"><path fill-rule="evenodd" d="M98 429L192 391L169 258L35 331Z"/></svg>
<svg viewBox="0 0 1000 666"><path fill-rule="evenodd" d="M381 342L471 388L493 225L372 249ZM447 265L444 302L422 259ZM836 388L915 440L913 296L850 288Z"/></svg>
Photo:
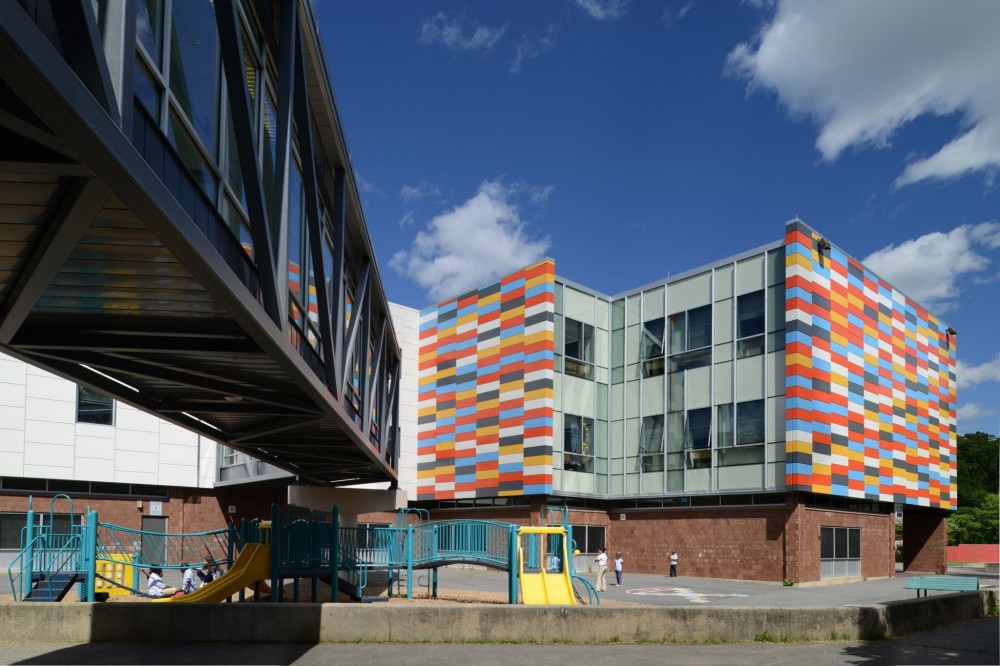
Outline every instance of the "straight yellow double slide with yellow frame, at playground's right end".
<svg viewBox="0 0 1000 666"><path fill-rule="evenodd" d="M518 531L520 545L517 549L517 578L521 583L521 603L527 605L562 604L576 605L576 595L573 593L573 580L570 577L569 560L567 559L566 531L561 527L522 527ZM547 536L534 537L528 535L562 536L557 552L545 552L545 546L550 539ZM528 536L527 539L525 537ZM535 550L534 562L545 562L546 566L529 568L525 566L524 547ZM541 550L539 550L541 549Z"/></svg>

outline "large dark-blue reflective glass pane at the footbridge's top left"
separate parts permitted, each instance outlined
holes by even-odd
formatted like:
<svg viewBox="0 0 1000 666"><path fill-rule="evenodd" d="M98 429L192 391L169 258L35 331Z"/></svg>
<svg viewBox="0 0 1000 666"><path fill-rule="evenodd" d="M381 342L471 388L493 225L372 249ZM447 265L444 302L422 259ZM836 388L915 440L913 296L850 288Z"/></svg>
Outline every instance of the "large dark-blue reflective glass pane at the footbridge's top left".
<svg viewBox="0 0 1000 666"><path fill-rule="evenodd" d="M214 158L219 82L218 42L212 3L173 3L170 90Z"/></svg>

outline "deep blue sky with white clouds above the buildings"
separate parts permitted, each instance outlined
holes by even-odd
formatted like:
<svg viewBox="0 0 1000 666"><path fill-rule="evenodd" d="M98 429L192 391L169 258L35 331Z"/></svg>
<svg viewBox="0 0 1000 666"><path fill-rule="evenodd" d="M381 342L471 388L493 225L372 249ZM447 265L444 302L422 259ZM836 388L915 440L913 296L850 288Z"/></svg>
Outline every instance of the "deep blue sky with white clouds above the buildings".
<svg viewBox="0 0 1000 666"><path fill-rule="evenodd" d="M958 331L1000 434L1000 2L315 3L390 300L608 294L798 216Z"/></svg>

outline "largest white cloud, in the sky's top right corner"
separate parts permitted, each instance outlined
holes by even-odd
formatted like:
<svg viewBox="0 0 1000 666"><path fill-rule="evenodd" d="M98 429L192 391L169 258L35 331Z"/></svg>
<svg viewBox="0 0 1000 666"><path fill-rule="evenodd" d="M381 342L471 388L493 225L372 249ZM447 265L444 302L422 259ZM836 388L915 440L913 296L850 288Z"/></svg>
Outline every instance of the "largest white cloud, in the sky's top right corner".
<svg viewBox="0 0 1000 666"><path fill-rule="evenodd" d="M813 119L816 147L835 160L882 147L922 115L956 116L955 136L913 156L904 186L1000 169L1000 2L783 0L727 71L773 90Z"/></svg>

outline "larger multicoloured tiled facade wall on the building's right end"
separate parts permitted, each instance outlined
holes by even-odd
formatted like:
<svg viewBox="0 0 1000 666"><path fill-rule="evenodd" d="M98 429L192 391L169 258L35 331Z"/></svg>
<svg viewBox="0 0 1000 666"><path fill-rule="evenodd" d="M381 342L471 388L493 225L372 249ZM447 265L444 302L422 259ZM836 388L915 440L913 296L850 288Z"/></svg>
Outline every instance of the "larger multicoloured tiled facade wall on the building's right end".
<svg viewBox="0 0 1000 666"><path fill-rule="evenodd" d="M954 331L802 222L785 245L788 489L955 508Z"/></svg>

